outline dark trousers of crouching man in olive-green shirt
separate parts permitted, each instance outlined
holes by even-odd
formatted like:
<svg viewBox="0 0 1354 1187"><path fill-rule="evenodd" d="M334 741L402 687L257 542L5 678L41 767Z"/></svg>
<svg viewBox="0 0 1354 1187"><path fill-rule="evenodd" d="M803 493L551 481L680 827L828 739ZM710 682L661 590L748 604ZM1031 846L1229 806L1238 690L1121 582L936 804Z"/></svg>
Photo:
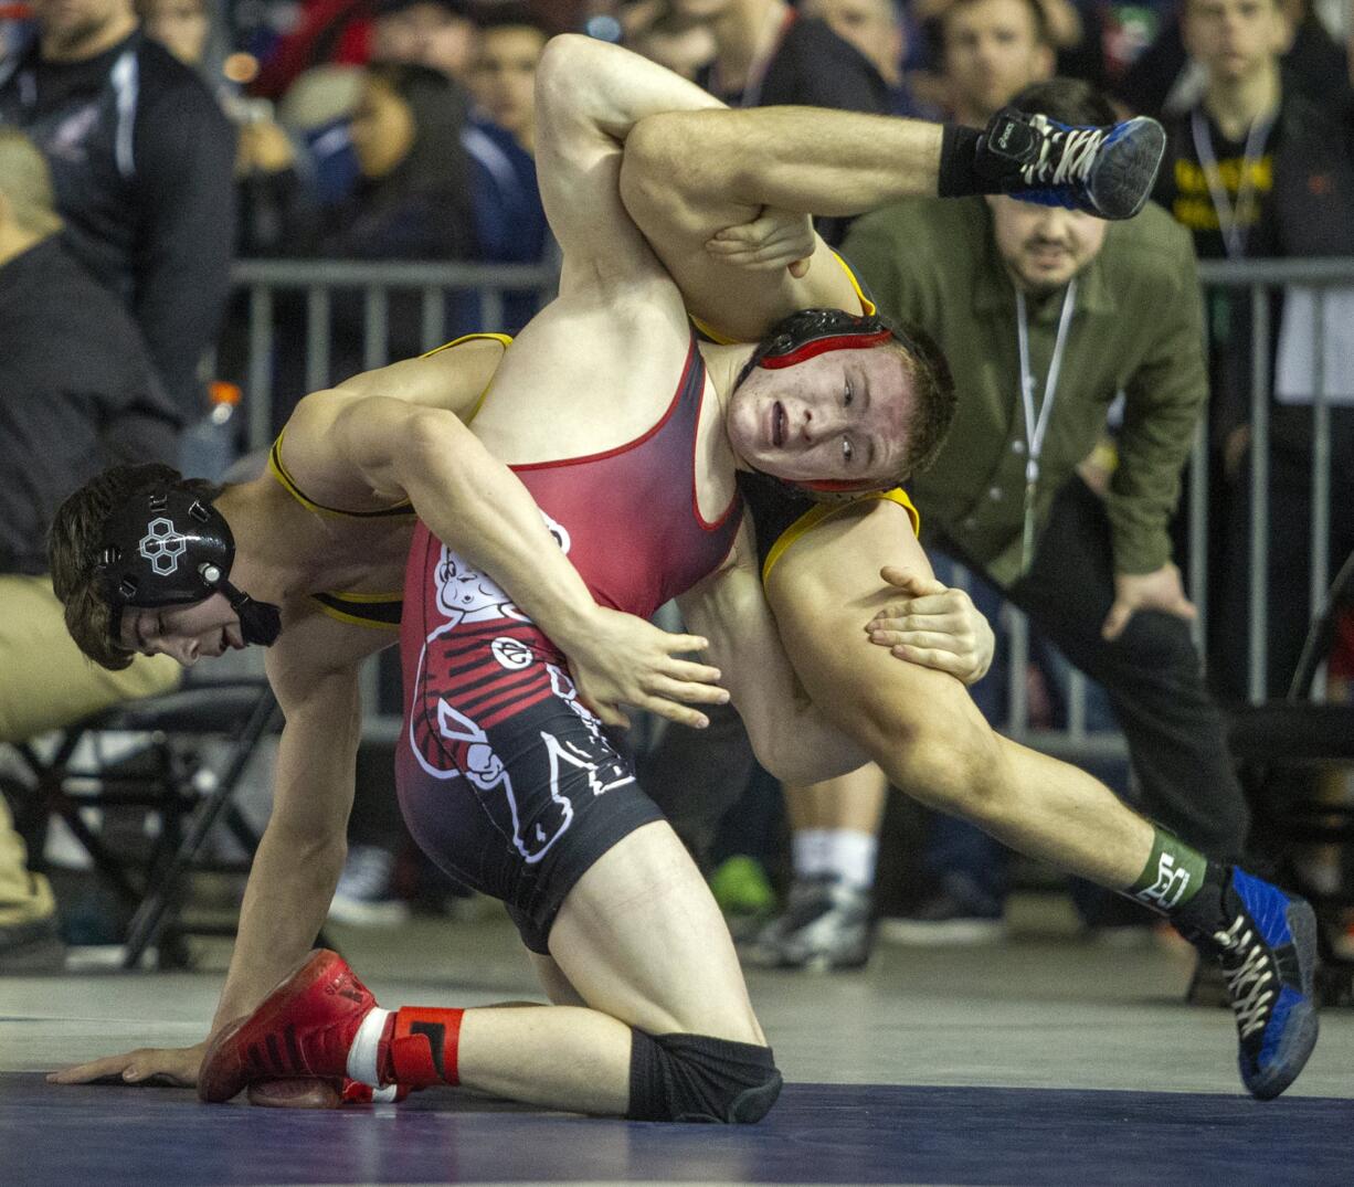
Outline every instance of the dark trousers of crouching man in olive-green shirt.
<svg viewBox="0 0 1354 1187"><path fill-rule="evenodd" d="M1143 812L1209 857L1238 859L1250 813L1189 624L1139 610L1113 643L1101 637L1114 601L1109 518L1079 478L1059 493L1029 573L1006 594L1108 693Z"/></svg>

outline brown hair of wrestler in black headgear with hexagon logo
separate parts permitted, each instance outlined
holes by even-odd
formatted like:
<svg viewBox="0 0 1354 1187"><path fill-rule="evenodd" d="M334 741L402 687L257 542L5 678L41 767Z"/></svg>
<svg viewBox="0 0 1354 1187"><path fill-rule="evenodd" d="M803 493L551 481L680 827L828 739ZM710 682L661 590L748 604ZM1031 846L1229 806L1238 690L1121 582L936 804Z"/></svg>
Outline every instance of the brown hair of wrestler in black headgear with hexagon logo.
<svg viewBox="0 0 1354 1187"><path fill-rule="evenodd" d="M68 495L47 532L51 589L65 606L66 629L76 646L108 671L129 667L134 652L114 639L116 616L97 573L104 527L114 510L153 486L185 490L204 502L213 502L222 490L204 479L184 478L158 462L114 466Z"/></svg>

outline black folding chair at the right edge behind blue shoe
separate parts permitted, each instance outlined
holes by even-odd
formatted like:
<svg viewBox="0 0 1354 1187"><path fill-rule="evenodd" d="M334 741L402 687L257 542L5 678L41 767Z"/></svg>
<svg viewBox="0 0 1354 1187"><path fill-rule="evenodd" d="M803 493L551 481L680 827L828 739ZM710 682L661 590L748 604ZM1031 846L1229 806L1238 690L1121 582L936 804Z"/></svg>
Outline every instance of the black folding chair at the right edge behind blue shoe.
<svg viewBox="0 0 1354 1187"><path fill-rule="evenodd" d="M1335 799L1320 774L1354 765L1354 705L1319 704L1312 688L1331 652L1342 613L1354 608L1354 555L1331 585L1312 624L1297 670L1282 701L1247 705L1231 713L1231 747L1254 813L1251 841L1274 859L1281 878L1311 900L1320 924L1320 998L1326 1004L1354 999L1354 956L1332 943L1354 910L1354 801ZM1336 891L1311 884L1294 858L1303 847L1332 846L1340 854Z"/></svg>

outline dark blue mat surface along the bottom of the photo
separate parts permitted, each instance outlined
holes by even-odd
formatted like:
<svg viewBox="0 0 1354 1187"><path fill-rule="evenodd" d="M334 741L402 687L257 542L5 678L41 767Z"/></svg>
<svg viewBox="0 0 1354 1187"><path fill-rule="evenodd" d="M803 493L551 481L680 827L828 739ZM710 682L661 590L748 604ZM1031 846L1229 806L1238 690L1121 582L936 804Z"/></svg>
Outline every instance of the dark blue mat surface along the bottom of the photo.
<svg viewBox="0 0 1354 1187"><path fill-rule="evenodd" d="M1354 1103L789 1084L756 1126L547 1114L452 1090L399 1106L204 1106L184 1090L0 1075L0 1183L746 1182L1336 1184Z"/></svg>

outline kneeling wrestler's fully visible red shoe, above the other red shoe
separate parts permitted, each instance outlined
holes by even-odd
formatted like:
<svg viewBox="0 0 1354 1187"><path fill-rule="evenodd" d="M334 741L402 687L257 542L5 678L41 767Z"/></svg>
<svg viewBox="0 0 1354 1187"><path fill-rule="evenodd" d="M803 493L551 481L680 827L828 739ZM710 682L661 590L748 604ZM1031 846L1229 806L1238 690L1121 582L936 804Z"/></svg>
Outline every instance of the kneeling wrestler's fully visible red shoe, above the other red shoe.
<svg viewBox="0 0 1354 1187"><path fill-rule="evenodd" d="M253 1014L211 1041L198 1096L230 1100L256 1080L343 1080L353 1035L375 1004L338 953L317 949Z"/></svg>

